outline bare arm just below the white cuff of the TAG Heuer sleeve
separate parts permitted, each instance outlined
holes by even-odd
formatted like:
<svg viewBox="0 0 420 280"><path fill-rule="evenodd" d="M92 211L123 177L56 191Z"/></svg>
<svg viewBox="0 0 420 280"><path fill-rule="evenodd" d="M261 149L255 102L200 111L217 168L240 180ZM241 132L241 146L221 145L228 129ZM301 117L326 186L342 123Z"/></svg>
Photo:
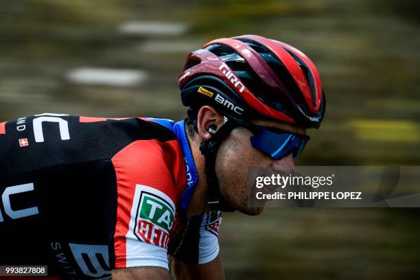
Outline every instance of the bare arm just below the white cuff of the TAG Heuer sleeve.
<svg viewBox="0 0 420 280"><path fill-rule="evenodd" d="M159 267L137 267L137 268L121 268L112 272L113 280L168 280L170 275L165 268Z"/></svg>

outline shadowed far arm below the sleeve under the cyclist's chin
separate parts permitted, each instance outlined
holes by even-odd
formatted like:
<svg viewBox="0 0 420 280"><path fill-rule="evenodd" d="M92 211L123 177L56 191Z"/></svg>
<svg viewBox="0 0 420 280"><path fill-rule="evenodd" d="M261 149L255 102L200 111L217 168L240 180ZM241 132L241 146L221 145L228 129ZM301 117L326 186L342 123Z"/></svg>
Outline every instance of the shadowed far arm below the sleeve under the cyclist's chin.
<svg viewBox="0 0 420 280"><path fill-rule="evenodd" d="M175 257L171 259L175 279L222 280L224 279L220 255L207 264L187 264Z"/></svg>

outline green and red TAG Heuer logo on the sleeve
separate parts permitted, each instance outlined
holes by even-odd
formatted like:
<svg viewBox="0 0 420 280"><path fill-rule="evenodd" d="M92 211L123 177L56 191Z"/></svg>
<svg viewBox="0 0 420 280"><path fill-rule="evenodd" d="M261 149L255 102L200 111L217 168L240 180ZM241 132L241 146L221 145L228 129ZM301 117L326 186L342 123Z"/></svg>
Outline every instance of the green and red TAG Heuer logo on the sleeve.
<svg viewBox="0 0 420 280"><path fill-rule="evenodd" d="M167 248L169 233L174 224L174 205L170 198L157 189L140 188L135 235L139 240Z"/></svg>

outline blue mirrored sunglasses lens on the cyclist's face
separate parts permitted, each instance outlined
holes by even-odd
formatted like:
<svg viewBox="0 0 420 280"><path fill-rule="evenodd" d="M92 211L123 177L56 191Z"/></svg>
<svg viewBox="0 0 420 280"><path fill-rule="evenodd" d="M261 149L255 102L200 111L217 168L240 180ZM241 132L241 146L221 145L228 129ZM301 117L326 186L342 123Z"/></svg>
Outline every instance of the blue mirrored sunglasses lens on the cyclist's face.
<svg viewBox="0 0 420 280"><path fill-rule="evenodd" d="M270 130L261 130L250 138L251 145L261 152L269 154L273 159L281 159L284 156L293 153L294 159L305 148L309 137L306 135L296 135L294 133L276 133Z"/></svg>

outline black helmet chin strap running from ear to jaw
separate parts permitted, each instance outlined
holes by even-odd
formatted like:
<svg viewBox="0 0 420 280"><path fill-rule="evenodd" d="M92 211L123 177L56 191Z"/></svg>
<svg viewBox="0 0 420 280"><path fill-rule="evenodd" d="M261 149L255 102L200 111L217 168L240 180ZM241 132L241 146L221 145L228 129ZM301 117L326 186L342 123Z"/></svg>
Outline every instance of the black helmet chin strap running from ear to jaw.
<svg viewBox="0 0 420 280"><path fill-rule="evenodd" d="M237 127L235 121L226 120L222 127L219 128L211 139L200 143L200 152L205 156L205 172L208 186L208 205L215 211L233 212L235 209L229 205L220 195L220 187L218 178L215 175L215 158L220 147L220 143L231 133L233 128Z"/></svg>

